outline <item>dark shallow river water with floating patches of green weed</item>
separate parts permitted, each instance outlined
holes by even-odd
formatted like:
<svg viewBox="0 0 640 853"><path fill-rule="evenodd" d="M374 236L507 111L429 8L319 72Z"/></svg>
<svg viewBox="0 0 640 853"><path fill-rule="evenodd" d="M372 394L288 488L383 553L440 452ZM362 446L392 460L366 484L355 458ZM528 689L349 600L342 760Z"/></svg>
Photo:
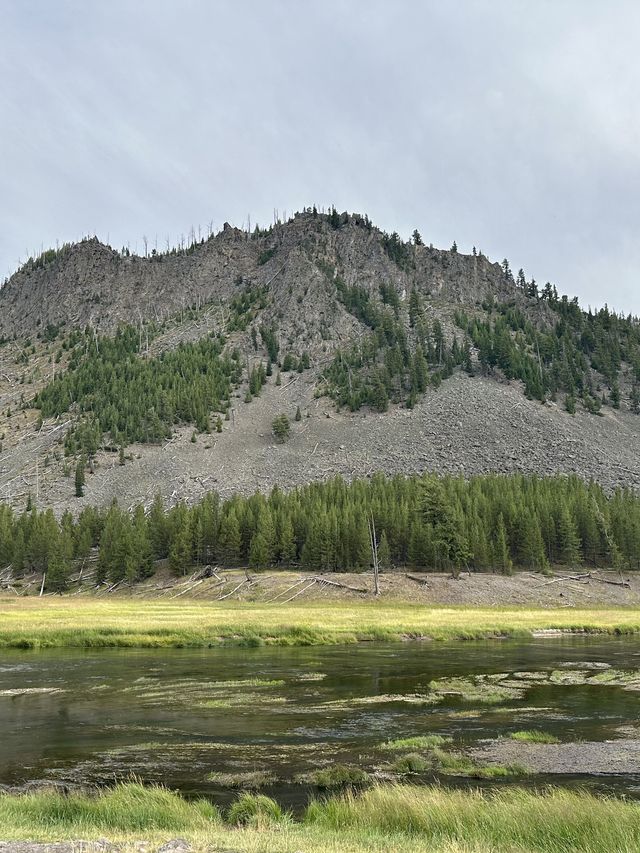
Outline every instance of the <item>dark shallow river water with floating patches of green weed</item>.
<svg viewBox="0 0 640 853"><path fill-rule="evenodd" d="M470 695L460 679L476 685ZM484 695L491 684L507 695ZM382 744L394 738L447 735L464 750L541 729L563 743L624 745L640 738L637 686L640 640L629 638L3 651L0 783L136 777L224 802L237 794L229 774L264 771L274 777L265 793L296 806L311 790L301 774L314 769L344 763L384 775L393 756ZM638 770L612 762L525 784L640 797Z"/></svg>

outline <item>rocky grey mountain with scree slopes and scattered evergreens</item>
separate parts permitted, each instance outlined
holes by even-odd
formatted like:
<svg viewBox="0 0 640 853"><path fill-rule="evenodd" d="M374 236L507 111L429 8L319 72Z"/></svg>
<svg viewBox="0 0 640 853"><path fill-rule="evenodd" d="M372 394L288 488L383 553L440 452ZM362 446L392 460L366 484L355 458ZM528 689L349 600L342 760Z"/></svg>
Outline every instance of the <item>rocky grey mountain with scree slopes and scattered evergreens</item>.
<svg viewBox="0 0 640 853"><path fill-rule="evenodd" d="M5 283L0 336L0 498L17 504L376 470L640 482L634 318L363 215L225 225L146 258L66 245Z"/></svg>

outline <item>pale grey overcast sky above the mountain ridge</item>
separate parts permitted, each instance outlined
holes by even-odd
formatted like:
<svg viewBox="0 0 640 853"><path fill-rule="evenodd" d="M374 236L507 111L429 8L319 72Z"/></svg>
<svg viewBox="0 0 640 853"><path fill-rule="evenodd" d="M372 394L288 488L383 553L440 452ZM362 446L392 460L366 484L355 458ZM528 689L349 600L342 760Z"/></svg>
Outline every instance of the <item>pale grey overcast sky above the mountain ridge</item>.
<svg viewBox="0 0 640 853"><path fill-rule="evenodd" d="M311 204L640 314L636 0L0 0L0 279Z"/></svg>

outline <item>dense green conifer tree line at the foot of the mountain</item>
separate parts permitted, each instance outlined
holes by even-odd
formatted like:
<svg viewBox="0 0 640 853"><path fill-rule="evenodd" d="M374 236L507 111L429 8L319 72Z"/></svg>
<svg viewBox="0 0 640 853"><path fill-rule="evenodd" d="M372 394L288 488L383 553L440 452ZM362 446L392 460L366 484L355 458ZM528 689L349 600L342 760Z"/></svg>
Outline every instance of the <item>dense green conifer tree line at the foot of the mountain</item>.
<svg viewBox="0 0 640 853"><path fill-rule="evenodd" d="M211 492L199 503L148 510L113 503L57 520L28 506L0 505L0 566L15 576L46 572L46 588L62 591L79 563L97 555L98 582L149 577L159 561L176 574L194 565L297 566L312 571L364 571L375 522L383 570L545 570L550 565L640 567L640 497L606 494L576 476L461 477L376 474L340 477L269 495Z"/></svg>

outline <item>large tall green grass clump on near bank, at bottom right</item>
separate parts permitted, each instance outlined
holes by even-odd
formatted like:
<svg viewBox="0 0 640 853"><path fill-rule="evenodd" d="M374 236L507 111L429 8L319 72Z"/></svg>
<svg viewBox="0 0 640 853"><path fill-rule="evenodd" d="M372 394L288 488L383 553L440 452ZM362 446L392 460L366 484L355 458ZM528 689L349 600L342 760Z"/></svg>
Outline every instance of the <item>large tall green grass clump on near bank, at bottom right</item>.
<svg viewBox="0 0 640 853"><path fill-rule="evenodd" d="M308 807L306 821L331 830L419 835L425 850L637 853L640 806L584 792L509 789L487 794L385 785Z"/></svg>

